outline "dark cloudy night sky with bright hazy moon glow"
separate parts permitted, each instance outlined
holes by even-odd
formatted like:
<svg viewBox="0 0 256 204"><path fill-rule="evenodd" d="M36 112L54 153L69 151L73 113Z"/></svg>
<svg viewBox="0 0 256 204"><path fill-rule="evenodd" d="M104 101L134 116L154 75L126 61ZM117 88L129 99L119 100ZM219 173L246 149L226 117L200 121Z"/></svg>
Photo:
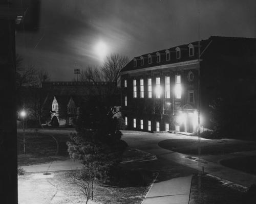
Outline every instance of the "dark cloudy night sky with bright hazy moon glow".
<svg viewBox="0 0 256 204"><path fill-rule="evenodd" d="M18 32L16 52L52 81L71 81L74 68L102 64L99 42L132 59L198 40L199 22L201 39L256 38L255 8L255 0L42 0L39 30Z"/></svg>

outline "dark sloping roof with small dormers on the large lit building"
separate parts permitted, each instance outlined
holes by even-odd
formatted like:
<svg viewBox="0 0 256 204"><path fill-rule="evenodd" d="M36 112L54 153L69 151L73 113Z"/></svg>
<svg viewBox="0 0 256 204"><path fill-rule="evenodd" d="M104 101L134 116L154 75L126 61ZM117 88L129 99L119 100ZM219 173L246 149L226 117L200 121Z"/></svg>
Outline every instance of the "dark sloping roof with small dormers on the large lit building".
<svg viewBox="0 0 256 204"><path fill-rule="evenodd" d="M194 45L194 55L189 56L189 44ZM144 64L141 65L140 63L140 57L137 56L133 58L122 70L124 71L131 71L131 70L138 70L142 68L148 68L148 67L155 67L160 65L166 65L166 64L174 64L178 62L184 62L184 61L190 61L190 60L197 60L199 59L198 53L199 53L199 42L189 42L187 44L182 44L170 48L165 48L162 50L157 50L153 53L147 53L143 54L141 56L144 57ZM215 45L215 46L212 46ZM181 50L181 57L180 59L177 59L176 57L176 48L179 47ZM214 51L216 53L218 52L226 52L226 53L232 53L237 52L237 47L239 47L239 52L255 52L256 51L256 39L255 38L241 38L241 37L221 37L221 36L211 36L206 40L200 40L200 58L203 57L206 50L208 50L210 47L214 47ZM243 51L241 51L241 49ZM170 60L166 60L165 51L169 50L170 52ZM247 52L247 53L248 53ZM157 62L157 53L160 53L160 62ZM147 56L152 56L152 63L148 64ZM137 60L137 66L134 66L134 60Z"/></svg>

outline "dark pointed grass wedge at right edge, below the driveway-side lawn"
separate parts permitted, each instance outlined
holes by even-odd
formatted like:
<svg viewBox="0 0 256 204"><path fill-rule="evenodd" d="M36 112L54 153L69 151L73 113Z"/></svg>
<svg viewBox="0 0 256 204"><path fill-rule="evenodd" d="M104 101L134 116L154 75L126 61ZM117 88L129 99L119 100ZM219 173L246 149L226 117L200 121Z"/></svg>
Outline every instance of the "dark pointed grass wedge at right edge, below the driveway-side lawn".
<svg viewBox="0 0 256 204"><path fill-rule="evenodd" d="M223 166L256 175L256 156L237 157L220 161Z"/></svg>

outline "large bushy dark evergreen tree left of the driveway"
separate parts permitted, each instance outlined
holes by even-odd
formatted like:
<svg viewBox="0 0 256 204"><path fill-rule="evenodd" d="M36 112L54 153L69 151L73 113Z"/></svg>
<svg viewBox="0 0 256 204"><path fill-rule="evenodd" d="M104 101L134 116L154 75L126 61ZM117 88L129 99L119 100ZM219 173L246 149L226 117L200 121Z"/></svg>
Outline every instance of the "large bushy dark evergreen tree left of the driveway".
<svg viewBox="0 0 256 204"><path fill-rule="evenodd" d="M84 165L84 174L106 181L111 169L121 161L127 144L121 140L117 118L112 118L100 102L92 97L84 104L76 125L77 133L71 134L67 144L70 157Z"/></svg>

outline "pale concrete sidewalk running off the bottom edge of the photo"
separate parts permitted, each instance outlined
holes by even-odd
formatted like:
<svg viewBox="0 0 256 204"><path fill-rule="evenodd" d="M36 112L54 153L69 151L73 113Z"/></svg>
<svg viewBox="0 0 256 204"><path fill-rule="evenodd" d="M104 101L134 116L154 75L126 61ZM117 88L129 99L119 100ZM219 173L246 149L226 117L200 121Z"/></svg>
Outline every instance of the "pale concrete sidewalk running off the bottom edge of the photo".
<svg viewBox="0 0 256 204"><path fill-rule="evenodd" d="M155 182L142 204L188 204L192 175Z"/></svg>

